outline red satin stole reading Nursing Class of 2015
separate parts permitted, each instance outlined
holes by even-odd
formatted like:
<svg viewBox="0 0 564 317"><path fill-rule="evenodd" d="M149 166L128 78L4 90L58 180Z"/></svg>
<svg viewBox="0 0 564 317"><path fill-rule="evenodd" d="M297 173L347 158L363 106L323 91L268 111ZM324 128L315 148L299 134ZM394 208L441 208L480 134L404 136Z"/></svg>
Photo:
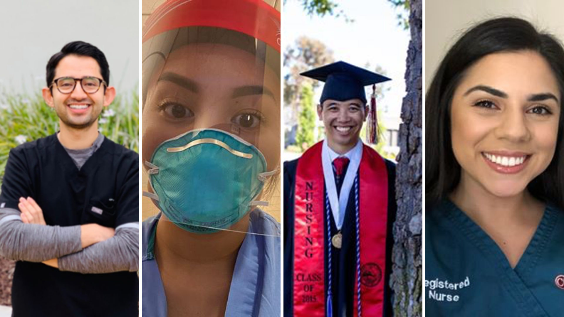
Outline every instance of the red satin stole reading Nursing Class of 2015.
<svg viewBox="0 0 564 317"><path fill-rule="evenodd" d="M295 188L293 303L295 317L325 316L325 190L321 149L315 144L298 160ZM382 316L386 271L387 169L384 159L363 146L358 175L360 272L355 273L354 316ZM353 187L354 189L354 187ZM353 239L353 237L349 237ZM355 262L355 258L350 259ZM337 272L337 268L333 268ZM360 275L360 276L359 276ZM359 279L360 278L360 279ZM336 296L334 294L334 296Z"/></svg>

